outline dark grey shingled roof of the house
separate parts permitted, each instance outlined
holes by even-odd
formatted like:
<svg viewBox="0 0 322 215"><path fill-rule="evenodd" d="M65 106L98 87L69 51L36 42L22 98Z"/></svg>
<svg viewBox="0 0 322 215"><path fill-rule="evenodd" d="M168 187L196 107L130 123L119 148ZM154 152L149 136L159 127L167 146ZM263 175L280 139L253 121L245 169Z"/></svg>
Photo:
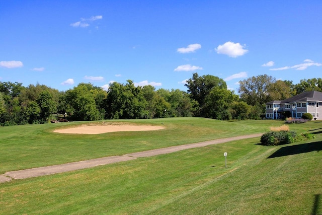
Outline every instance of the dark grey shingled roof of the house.
<svg viewBox="0 0 322 215"><path fill-rule="evenodd" d="M322 101L322 93L318 91L309 91L298 94L282 101L270 101L266 104L281 104L281 103L292 103L292 102L307 102L307 101Z"/></svg>

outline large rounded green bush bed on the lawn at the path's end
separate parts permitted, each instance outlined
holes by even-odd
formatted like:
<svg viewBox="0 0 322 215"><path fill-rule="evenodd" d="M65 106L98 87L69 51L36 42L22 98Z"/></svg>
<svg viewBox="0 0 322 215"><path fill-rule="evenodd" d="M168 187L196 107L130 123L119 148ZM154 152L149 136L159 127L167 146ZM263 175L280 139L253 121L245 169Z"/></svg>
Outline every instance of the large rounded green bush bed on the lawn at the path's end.
<svg viewBox="0 0 322 215"><path fill-rule="evenodd" d="M312 133L296 134L296 131L269 131L261 136L261 143L265 146L278 146L313 138L315 136Z"/></svg>

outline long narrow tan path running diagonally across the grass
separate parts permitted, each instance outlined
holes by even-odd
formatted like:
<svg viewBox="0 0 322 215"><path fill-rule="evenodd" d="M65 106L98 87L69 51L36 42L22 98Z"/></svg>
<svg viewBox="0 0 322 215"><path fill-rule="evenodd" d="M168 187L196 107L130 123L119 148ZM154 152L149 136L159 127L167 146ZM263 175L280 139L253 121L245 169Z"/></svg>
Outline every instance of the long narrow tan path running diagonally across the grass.
<svg viewBox="0 0 322 215"><path fill-rule="evenodd" d="M86 161L78 161L78 162L60 164L60 165L54 165L54 166L11 171L11 172L7 172L3 175L0 175L0 183L8 182L8 181L11 181L12 179L33 178L33 177L38 177L38 176L51 175L51 174L56 174L56 173L63 173L63 172L69 172L69 171L74 171L74 170L86 169L86 168L91 168L91 167L96 167L96 166L106 165L106 164L112 164L112 163L117 163L117 162L122 162L122 161L129 161L129 160L134 160L137 158L144 158L144 157L151 157L151 156L156 156L156 155L169 154L169 153L178 152L178 151L182 151L182 150L186 150L186 149L205 147L205 146L214 145L214 144L221 144L222 142L229 142L229 141L238 140L238 139L259 137L261 135L262 135L262 133L243 135L243 136L234 136L234 137L215 139L215 140L209 140L209 141L204 141L204 142L197 142L196 144L187 144L187 145L182 145L182 146L175 146L175 147L168 147L168 148L163 148L163 149L155 149L155 150L149 150L149 151L144 151L144 152L131 153L131 154L123 155L123 156L111 156L111 157L98 158L98 159L92 159L92 160L86 160Z"/></svg>

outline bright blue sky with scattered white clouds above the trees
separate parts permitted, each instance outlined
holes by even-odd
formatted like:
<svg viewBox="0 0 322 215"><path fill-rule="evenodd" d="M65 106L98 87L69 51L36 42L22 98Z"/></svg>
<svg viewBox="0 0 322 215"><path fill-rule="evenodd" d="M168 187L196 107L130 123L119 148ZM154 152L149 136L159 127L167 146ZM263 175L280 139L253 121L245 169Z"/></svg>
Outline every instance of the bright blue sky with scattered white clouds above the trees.
<svg viewBox="0 0 322 215"><path fill-rule="evenodd" d="M321 78L322 1L0 0L0 81L187 90L193 73Z"/></svg>

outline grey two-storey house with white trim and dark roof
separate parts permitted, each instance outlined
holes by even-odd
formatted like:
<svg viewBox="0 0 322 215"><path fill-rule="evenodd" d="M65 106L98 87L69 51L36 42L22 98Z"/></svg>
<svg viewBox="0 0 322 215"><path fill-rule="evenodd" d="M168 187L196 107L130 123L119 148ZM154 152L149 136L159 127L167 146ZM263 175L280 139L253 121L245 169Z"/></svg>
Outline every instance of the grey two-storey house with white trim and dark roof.
<svg viewBox="0 0 322 215"><path fill-rule="evenodd" d="M284 111L290 111L293 118L301 118L303 113L310 113L313 119L322 119L322 93L309 91L282 101L266 103L267 119L281 119Z"/></svg>

